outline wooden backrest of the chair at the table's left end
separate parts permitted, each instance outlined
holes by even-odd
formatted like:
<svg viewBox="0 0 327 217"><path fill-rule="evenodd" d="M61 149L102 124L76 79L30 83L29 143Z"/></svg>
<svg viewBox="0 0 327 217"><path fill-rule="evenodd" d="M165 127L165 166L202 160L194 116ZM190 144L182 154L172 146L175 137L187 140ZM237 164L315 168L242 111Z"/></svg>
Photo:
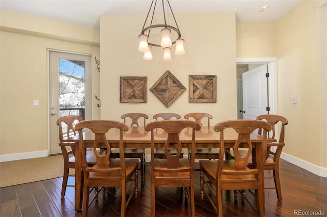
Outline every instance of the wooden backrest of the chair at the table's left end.
<svg viewBox="0 0 327 217"><path fill-rule="evenodd" d="M64 136L71 138L70 133L76 135L74 124L83 121L83 118L80 116L63 116L57 120L57 125L59 126L59 142L62 142ZM63 126L63 123L65 125Z"/></svg>

